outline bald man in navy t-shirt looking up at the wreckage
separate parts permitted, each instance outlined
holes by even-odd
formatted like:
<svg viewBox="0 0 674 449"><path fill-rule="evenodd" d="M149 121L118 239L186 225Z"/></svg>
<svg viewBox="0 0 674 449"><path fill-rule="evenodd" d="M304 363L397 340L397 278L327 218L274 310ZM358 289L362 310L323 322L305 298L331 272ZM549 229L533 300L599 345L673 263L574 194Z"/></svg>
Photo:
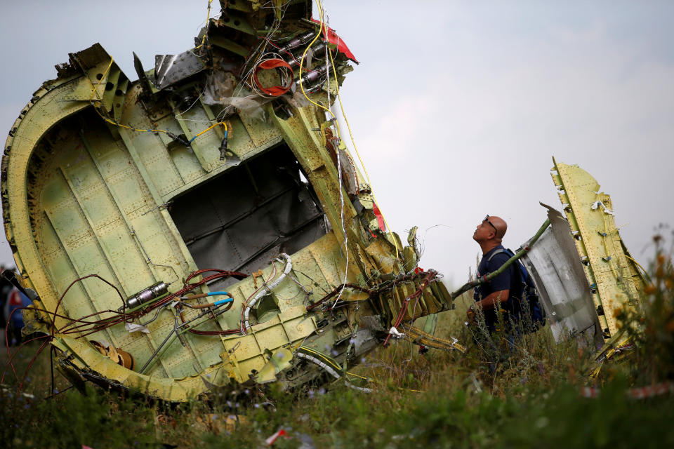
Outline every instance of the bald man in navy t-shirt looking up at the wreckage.
<svg viewBox="0 0 674 449"><path fill-rule="evenodd" d="M510 255L503 252L505 248L501 245L501 240L507 229L508 225L505 224L505 221L501 217L493 215L487 215L480 225L477 225L473 240L482 248L482 260L477 267L478 278L495 272L510 259ZM472 304L466 312L468 321L473 322L475 320L475 308L481 307L484 311L484 321L487 328L490 332L494 332L498 323L497 312L502 309L503 322L508 328L511 319L513 321L519 319L522 290L522 281L520 280L520 274L517 272L517 265L512 264L491 281L482 283L475 288L473 293L475 304Z"/></svg>

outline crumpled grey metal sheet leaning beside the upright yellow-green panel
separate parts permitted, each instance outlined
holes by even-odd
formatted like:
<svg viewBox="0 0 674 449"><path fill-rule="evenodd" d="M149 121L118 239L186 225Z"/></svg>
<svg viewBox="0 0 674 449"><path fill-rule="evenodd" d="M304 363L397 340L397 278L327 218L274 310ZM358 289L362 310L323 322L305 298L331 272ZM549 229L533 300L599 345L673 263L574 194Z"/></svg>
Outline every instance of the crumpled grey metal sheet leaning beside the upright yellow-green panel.
<svg viewBox="0 0 674 449"><path fill-rule="evenodd" d="M585 332L598 335L601 340L592 293L569 222L557 210L543 203L541 206L548 209L550 227L522 257L522 262L534 280L555 342Z"/></svg>

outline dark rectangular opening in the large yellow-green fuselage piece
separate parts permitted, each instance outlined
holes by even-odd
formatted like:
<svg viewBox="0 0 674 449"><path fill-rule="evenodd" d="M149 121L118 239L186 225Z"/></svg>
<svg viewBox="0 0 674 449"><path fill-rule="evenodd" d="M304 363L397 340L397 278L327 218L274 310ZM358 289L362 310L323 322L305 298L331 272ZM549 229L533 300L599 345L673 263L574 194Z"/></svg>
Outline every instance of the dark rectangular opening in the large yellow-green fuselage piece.
<svg viewBox="0 0 674 449"><path fill-rule="evenodd" d="M305 179L281 145L178 196L169 212L197 267L251 274L326 234L324 212Z"/></svg>

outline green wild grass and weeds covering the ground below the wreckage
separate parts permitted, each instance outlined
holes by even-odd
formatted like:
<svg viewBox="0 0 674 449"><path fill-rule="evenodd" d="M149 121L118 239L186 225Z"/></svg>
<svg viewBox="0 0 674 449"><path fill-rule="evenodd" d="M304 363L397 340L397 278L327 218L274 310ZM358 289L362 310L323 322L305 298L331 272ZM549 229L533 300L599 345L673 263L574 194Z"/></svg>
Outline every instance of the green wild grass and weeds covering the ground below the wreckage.
<svg viewBox="0 0 674 449"><path fill-rule="evenodd" d="M608 363L595 379L593 349L571 340L556 345L547 330L527 335L513 354L494 358L462 326L463 308L440 316L437 335L468 344L466 354L394 342L378 348L355 373L376 380L374 393L343 382L293 394L223 391L213 400L179 406L131 400L116 393L51 389L49 355L41 354L25 391L7 376L0 393L0 441L16 448L258 448L284 429L277 448L673 447L670 395L630 399L626 389L674 380L674 270L661 245L647 298L619 314L637 349ZM25 368L31 349L18 361ZM58 389L68 384L57 375ZM583 398L581 387L601 389ZM169 445L169 446L165 446Z"/></svg>

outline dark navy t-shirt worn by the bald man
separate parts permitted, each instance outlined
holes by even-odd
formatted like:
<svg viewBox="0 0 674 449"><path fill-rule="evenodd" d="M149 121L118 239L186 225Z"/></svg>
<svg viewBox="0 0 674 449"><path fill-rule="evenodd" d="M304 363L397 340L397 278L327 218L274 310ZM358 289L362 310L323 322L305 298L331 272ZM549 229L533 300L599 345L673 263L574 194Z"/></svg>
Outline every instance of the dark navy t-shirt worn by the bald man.
<svg viewBox="0 0 674 449"><path fill-rule="evenodd" d="M487 252L487 254L482 256L480 264L477 266L477 277L481 278L487 276L491 272L495 272L497 269L501 268L505 262L508 262L510 255L505 252L498 253L491 257L499 249L503 248L503 245L498 245L495 248L492 248ZM522 297L522 281L520 281L520 274L517 272L517 264L512 264L510 267L505 269L503 273L496 276L491 281L483 283L480 286L475 287L473 291L473 299L475 302L483 300L485 297L489 296L491 293L498 292L500 290L510 290L508 293L508 300L501 302L501 309L505 310L503 314L503 319L505 320L506 326L509 324L508 316L512 317L513 320L517 320L520 316L520 297ZM487 328L494 331L496 318L496 309L485 310L484 311L484 321L487 323Z"/></svg>

